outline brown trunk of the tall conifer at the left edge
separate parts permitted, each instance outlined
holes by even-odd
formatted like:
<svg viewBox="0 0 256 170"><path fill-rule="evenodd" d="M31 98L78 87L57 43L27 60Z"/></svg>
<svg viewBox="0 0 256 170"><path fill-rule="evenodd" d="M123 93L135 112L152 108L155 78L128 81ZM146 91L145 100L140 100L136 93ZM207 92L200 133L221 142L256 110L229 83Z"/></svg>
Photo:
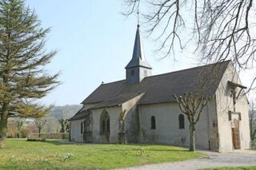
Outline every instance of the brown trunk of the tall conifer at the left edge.
<svg viewBox="0 0 256 170"><path fill-rule="evenodd" d="M9 103L4 103L2 105L1 120L0 120L0 148L4 147L4 140L6 140L8 112L9 112Z"/></svg>

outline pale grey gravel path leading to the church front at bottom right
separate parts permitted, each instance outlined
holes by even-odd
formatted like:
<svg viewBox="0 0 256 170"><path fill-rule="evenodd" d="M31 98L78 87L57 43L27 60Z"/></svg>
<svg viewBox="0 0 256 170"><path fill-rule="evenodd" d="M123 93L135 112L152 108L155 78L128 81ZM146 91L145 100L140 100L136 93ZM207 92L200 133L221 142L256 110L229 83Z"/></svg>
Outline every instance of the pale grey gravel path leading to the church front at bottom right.
<svg viewBox="0 0 256 170"><path fill-rule="evenodd" d="M149 164L145 166L122 168L122 170L170 170L201 169L216 167L252 166L256 165L256 151L244 150L230 153L205 152L208 156L175 163Z"/></svg>

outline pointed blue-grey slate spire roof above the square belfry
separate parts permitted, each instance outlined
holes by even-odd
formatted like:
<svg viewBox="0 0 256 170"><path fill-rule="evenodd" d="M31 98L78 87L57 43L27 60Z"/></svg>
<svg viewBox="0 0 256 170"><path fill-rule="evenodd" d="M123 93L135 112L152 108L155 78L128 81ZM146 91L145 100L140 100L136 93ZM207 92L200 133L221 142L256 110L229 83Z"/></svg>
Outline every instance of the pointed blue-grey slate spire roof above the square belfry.
<svg viewBox="0 0 256 170"><path fill-rule="evenodd" d="M136 66L142 66L142 67L151 69L150 64L146 61L146 58L144 56L144 49L143 49L142 40L139 32L139 25L137 27L136 36L135 36L133 57L128 63L128 65L126 65L126 69L133 68Z"/></svg>

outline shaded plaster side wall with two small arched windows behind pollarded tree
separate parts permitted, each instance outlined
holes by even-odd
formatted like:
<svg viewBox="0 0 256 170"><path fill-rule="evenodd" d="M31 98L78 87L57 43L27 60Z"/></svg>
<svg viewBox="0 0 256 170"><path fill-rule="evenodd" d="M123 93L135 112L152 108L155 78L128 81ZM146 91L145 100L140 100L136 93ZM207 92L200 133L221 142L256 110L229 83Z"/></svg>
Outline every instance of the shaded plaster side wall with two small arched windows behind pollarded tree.
<svg viewBox="0 0 256 170"><path fill-rule="evenodd" d="M211 123L216 118L214 102L203 110L196 130L198 148L209 148ZM185 129L178 128L178 115L181 113L177 103L140 105L140 142L185 145L190 144L189 122L185 116ZM156 129L150 129L151 117L156 120Z"/></svg>

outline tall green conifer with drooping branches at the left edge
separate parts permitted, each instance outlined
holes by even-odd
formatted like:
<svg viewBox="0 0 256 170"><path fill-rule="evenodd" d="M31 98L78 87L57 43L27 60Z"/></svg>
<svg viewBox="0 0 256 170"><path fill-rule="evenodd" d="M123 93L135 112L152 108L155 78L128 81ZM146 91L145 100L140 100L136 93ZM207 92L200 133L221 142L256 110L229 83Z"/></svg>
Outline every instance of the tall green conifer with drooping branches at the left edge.
<svg viewBox="0 0 256 170"><path fill-rule="evenodd" d="M44 68L56 54L45 49L49 32L22 0L0 0L0 145L8 113L45 97L59 83L58 73L50 75Z"/></svg>

